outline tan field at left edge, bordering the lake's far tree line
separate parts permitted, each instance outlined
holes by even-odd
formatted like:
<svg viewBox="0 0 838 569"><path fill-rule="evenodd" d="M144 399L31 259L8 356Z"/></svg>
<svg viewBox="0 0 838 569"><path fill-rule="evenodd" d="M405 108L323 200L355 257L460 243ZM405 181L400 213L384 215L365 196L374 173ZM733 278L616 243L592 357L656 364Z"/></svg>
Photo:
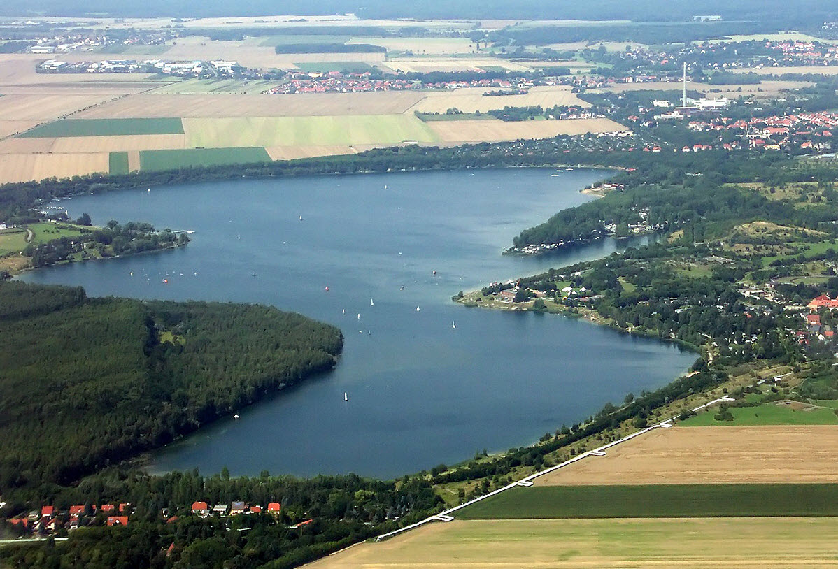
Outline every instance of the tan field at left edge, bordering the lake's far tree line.
<svg viewBox="0 0 838 569"><path fill-rule="evenodd" d="M107 173L109 153L0 154L0 184Z"/></svg>

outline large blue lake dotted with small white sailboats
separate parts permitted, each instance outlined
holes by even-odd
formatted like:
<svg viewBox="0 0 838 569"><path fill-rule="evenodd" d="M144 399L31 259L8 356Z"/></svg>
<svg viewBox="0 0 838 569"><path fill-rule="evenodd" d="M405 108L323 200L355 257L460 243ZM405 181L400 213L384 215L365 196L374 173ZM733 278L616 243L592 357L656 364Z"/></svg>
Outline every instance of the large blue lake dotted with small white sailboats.
<svg viewBox="0 0 838 569"><path fill-rule="evenodd" d="M581 320L451 301L615 251L601 240L549 257L501 255L520 230L590 199L579 190L605 176L387 173L78 196L61 202L73 218L148 221L194 230L193 241L22 279L81 285L91 296L267 303L339 326L344 354L333 372L169 445L149 469L391 478L530 444L629 391L669 383L696 360Z"/></svg>

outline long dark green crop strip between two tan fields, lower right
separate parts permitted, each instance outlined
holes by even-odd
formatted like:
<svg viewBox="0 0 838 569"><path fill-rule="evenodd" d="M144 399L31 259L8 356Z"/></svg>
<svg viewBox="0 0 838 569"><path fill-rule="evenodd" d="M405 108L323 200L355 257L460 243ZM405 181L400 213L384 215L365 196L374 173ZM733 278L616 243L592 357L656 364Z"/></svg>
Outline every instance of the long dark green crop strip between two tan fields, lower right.
<svg viewBox="0 0 838 569"><path fill-rule="evenodd" d="M514 488L464 520L838 515L838 484L639 484Z"/></svg>

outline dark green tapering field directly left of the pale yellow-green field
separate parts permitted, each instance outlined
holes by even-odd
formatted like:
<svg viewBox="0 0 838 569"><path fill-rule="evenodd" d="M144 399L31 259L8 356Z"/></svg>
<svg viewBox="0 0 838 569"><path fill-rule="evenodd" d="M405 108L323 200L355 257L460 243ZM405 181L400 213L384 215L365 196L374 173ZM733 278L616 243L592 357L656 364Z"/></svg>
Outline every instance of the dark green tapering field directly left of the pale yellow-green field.
<svg viewBox="0 0 838 569"><path fill-rule="evenodd" d="M18 134L21 138L113 137L129 134L183 134L179 118L64 119Z"/></svg>

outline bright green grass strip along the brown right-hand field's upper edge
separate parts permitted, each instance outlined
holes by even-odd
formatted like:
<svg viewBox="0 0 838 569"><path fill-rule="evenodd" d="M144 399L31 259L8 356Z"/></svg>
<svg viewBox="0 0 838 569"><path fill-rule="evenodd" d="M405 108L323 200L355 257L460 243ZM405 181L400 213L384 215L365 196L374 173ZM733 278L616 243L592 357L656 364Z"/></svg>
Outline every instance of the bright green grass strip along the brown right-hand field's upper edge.
<svg viewBox="0 0 838 569"><path fill-rule="evenodd" d="M763 403L757 407L728 407L733 421L716 421L716 411L701 412L680 422L683 427L710 427L736 425L751 427L759 425L838 425L835 411L824 407L804 411L793 406Z"/></svg>

